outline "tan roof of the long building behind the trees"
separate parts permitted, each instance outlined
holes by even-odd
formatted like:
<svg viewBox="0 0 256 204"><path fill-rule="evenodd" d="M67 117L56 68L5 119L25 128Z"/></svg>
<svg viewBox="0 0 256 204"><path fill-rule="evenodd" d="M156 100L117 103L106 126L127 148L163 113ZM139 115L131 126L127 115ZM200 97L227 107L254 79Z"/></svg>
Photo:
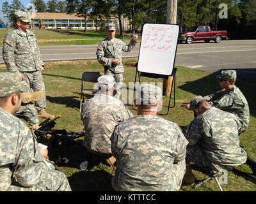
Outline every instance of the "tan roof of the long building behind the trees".
<svg viewBox="0 0 256 204"><path fill-rule="evenodd" d="M84 17L77 17L76 14L67 13L40 13L36 12L31 15L31 18L63 18L63 19L84 19Z"/></svg>

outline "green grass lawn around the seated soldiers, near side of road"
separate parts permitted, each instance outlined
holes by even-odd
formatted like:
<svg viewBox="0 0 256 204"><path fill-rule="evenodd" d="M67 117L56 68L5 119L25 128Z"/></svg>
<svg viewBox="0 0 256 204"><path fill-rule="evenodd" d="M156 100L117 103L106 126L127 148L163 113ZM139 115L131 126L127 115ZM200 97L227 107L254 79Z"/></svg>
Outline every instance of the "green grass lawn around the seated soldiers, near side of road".
<svg viewBox="0 0 256 204"><path fill-rule="evenodd" d="M123 62L137 61L134 59L124 59ZM0 71L6 71L3 64L0 65ZM61 115L61 119L56 120L54 129L66 129L67 131L83 131L83 122L80 119L80 90L81 90L81 75L84 71L104 71L103 67L97 61L61 61L61 62L45 62L45 71L43 73L46 94L47 94L47 112L54 115ZM134 82L136 68L125 66L124 84L127 85L129 92L127 96L132 96L133 90L131 84ZM142 82L158 82L153 78L140 78ZM130 83L130 87L129 87ZM87 84L88 87L93 87L93 84ZM246 96L250 105L250 124L245 133L240 136L241 145L252 159L256 160L256 110L255 110L255 94L256 84L237 80L236 85ZM123 91L127 88L123 86ZM220 87L216 80L215 74L196 71L194 69L178 67L176 76L176 92L175 92L175 107L170 108L168 115L160 115L164 119L172 120L179 126L189 124L193 119L193 112L189 112L185 108L181 108L180 104L189 102L193 96L212 93L218 91ZM168 105L168 99L164 96L164 106ZM171 106L173 106L173 96ZM136 111L132 106L127 106L135 115ZM166 107L161 113L166 113ZM42 121L42 120L40 120ZM100 125L100 124L99 124ZM161 124L159 124L161 125ZM83 140L83 138L81 138ZM92 168L82 171L79 164L88 159L88 154L82 147L72 146L65 149L66 156L70 160L67 165L56 164L56 168L63 171L70 182L70 186L74 191L113 191L111 187L111 177L115 173L111 167L108 167L102 161L93 161ZM50 159L56 161L56 152L49 149ZM252 170L242 164L237 168L241 171L252 173ZM205 178L205 175L193 168L196 181ZM255 179L256 177L253 176ZM228 171L228 185L222 185L224 191L256 191L256 184L253 184L244 177L236 175L232 171ZM180 191L220 191L215 180L211 180L204 186L193 189L193 186L182 186Z"/></svg>

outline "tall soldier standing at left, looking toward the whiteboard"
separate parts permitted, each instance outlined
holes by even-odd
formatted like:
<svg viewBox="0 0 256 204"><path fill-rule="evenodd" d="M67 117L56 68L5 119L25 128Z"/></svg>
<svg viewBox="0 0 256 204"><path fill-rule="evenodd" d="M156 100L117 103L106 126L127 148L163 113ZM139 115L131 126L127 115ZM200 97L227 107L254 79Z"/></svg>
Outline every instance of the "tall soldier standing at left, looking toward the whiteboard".
<svg viewBox="0 0 256 204"><path fill-rule="evenodd" d="M4 38L3 59L8 71L19 73L23 83L31 91L44 91L44 97L35 103L38 117L54 119L54 115L45 112L45 84L42 77L42 61L36 37L29 31L30 19L24 11L15 11L13 29Z"/></svg>

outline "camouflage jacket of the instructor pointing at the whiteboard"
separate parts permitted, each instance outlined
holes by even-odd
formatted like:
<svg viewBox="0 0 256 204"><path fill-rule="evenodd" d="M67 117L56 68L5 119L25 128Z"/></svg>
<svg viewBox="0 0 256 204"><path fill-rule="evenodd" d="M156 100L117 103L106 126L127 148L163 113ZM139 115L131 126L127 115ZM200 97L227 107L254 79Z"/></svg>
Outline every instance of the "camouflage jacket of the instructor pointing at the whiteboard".
<svg viewBox="0 0 256 204"><path fill-rule="evenodd" d="M99 43L97 48L97 59L106 69L110 69L114 73L124 72L124 66L122 62L119 65L112 64L113 59L122 60L122 51L130 52L136 45L137 41L131 40L129 45L126 45L124 41L115 38L114 42L111 42L106 38Z"/></svg>

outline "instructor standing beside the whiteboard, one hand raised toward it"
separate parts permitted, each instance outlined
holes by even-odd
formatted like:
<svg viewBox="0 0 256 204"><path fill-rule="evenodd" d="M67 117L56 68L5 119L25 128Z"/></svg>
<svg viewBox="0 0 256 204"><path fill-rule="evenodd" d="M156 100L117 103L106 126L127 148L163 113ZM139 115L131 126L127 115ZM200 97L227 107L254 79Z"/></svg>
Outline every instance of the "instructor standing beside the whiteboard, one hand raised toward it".
<svg viewBox="0 0 256 204"><path fill-rule="evenodd" d="M130 52L136 45L138 36L134 35L129 45L126 45L124 41L115 38L116 33L115 24L109 23L106 25L106 32L108 38L101 41L97 48L97 59L104 66L105 75L111 75L115 77L115 98L120 98L120 89L123 85L123 72L124 66L122 64L122 51Z"/></svg>

